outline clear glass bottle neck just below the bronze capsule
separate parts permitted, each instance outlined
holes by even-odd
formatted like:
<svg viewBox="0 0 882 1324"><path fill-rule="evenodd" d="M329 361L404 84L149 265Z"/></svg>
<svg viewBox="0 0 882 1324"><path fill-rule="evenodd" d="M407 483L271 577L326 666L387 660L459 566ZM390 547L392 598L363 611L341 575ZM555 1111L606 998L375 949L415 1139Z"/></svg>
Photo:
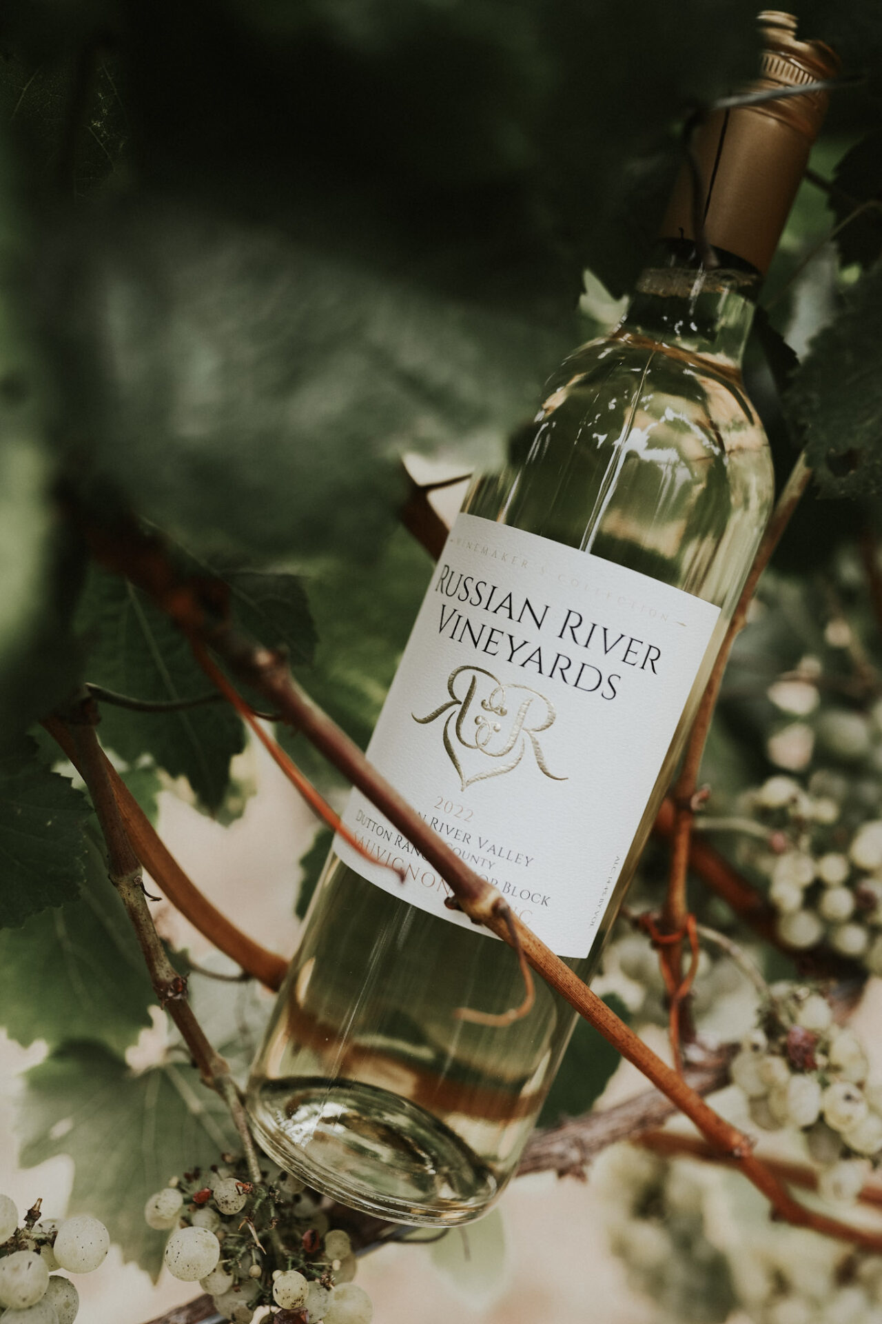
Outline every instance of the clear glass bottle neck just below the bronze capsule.
<svg viewBox="0 0 882 1324"><path fill-rule="evenodd" d="M717 249L719 266L701 265L690 241L662 240L640 274L616 336L640 336L738 372L762 277Z"/></svg>

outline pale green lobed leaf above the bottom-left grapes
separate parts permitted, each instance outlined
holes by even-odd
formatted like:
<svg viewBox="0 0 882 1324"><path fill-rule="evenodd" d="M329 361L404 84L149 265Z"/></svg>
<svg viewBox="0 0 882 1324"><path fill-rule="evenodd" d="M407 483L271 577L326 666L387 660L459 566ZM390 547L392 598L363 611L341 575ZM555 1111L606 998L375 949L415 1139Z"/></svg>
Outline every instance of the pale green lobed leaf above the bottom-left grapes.
<svg viewBox="0 0 882 1324"><path fill-rule="evenodd" d="M229 1115L196 1071L167 1062L134 1074L100 1043L70 1043L24 1076L19 1161L74 1161L70 1213L107 1225L123 1256L156 1278L165 1237L144 1222L148 1196L176 1173L235 1149Z"/></svg>

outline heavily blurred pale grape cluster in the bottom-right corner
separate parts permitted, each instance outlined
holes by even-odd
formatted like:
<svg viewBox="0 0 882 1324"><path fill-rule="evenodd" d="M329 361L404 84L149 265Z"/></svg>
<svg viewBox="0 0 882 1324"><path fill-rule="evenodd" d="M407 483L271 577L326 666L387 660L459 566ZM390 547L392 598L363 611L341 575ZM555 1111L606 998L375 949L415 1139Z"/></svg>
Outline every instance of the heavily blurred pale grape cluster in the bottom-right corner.
<svg viewBox="0 0 882 1324"><path fill-rule="evenodd" d="M738 1173L614 1145L591 1185L659 1324L882 1324L882 1259L770 1222Z"/></svg>

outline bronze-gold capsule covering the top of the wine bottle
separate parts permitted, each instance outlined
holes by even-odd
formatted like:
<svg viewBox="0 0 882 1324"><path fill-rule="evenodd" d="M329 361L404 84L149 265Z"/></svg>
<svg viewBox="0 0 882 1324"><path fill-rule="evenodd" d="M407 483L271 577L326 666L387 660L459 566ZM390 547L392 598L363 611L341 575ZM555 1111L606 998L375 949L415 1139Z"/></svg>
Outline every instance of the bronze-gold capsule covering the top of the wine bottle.
<svg viewBox="0 0 882 1324"><path fill-rule="evenodd" d="M759 26L759 78L746 91L800 87L838 73L840 60L828 45L797 38L792 15L764 9ZM819 90L735 106L714 111L696 130L692 148L709 244L759 271L768 269L828 102L829 93ZM662 222L664 238L696 238L692 191L692 173L684 167Z"/></svg>

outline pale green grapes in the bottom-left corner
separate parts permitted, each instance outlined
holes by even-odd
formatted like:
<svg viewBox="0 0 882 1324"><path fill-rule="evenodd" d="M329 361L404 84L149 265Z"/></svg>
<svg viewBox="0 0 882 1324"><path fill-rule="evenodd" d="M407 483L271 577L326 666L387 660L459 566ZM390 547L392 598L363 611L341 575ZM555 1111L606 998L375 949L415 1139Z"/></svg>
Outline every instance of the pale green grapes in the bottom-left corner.
<svg viewBox="0 0 882 1324"><path fill-rule="evenodd" d="M4 1324L73 1324L79 1295L69 1278L91 1274L107 1254L110 1235L97 1218L40 1217L40 1201L21 1225L9 1196L0 1196L0 1320Z"/></svg>

